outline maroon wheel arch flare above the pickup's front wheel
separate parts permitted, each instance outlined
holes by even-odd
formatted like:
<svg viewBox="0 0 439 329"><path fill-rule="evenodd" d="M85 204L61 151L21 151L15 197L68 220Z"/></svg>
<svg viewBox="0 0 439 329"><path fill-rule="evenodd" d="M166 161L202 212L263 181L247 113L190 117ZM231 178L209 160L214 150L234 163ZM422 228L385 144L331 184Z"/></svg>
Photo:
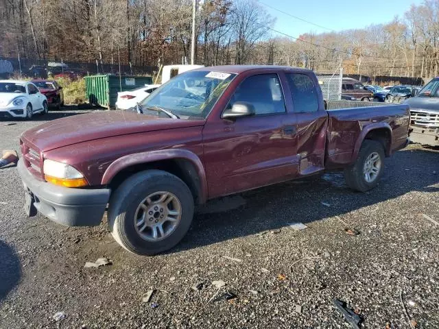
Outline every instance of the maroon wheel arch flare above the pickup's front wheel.
<svg viewBox="0 0 439 329"><path fill-rule="evenodd" d="M106 169L102 184L114 190L133 173L147 169L163 170L176 175L187 184L195 203L206 202L207 182L202 162L193 152L184 149L141 152L118 158Z"/></svg>

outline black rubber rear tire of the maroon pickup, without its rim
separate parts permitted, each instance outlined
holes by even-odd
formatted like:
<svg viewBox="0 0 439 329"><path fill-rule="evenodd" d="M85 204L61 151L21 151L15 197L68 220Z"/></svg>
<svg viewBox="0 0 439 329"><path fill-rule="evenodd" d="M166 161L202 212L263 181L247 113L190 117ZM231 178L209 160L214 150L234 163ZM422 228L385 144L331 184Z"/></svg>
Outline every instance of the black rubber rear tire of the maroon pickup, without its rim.
<svg viewBox="0 0 439 329"><path fill-rule="evenodd" d="M373 153L379 155L381 160L381 166L375 177L375 180L368 182L365 178L364 167L366 160ZM377 186L381 175L383 174L384 167L384 149L383 145L377 141L365 140L359 149L357 160L351 167L344 170L344 178L346 179L346 185L355 191L366 192Z"/></svg>

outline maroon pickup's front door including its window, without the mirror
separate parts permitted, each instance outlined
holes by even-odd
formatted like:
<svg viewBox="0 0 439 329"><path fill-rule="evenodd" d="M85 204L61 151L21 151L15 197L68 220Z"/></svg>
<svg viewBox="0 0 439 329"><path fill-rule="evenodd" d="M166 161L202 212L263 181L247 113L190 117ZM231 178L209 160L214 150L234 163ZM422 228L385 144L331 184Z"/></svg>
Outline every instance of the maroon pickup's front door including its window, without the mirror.
<svg viewBox="0 0 439 329"><path fill-rule="evenodd" d="M209 197L228 195L292 179L298 175L297 125L287 111L283 75L250 75L239 84L226 108L240 101L255 115L206 123L204 163ZM285 86L285 85L284 85Z"/></svg>

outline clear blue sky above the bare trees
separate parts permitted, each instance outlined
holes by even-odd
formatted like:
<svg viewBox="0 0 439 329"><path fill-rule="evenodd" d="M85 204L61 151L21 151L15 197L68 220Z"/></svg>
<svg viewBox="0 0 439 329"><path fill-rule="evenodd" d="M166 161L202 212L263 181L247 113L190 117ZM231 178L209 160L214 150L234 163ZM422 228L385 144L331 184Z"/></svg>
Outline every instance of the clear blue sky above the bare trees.
<svg viewBox="0 0 439 329"><path fill-rule="evenodd" d="M306 21L340 31L356 29L370 24L388 23L394 16L403 16L412 3L419 5L422 0L259 0ZM286 14L272 10L261 4L269 14L276 17L274 29L291 36L307 32L330 32Z"/></svg>

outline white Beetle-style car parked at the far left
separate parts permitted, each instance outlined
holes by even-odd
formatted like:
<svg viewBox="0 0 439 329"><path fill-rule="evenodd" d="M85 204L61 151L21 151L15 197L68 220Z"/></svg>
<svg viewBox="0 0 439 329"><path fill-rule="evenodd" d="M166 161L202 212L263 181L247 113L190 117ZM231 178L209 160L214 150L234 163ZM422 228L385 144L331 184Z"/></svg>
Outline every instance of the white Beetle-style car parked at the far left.
<svg viewBox="0 0 439 329"><path fill-rule="evenodd" d="M49 111L45 95L32 82L0 80L0 119L26 118Z"/></svg>

